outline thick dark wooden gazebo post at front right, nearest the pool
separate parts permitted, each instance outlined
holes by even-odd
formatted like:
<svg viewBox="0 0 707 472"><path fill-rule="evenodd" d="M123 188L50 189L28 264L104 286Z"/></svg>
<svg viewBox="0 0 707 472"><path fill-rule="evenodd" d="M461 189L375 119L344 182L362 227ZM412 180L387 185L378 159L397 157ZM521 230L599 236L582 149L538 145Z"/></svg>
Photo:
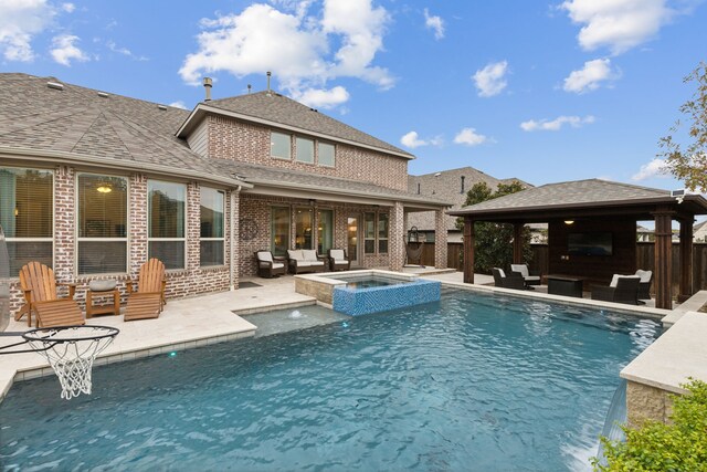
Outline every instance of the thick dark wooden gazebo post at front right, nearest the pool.
<svg viewBox="0 0 707 472"><path fill-rule="evenodd" d="M655 307L673 308L673 216L669 207L658 207L655 217Z"/></svg>

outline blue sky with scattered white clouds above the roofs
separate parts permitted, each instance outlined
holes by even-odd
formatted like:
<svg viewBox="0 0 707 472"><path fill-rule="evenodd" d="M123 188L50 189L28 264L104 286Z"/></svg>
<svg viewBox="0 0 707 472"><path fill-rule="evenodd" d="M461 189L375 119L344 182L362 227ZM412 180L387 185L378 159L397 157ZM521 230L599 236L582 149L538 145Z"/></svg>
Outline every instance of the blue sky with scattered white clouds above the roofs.
<svg viewBox="0 0 707 472"><path fill-rule="evenodd" d="M695 92L705 24L700 0L0 0L0 71L188 109L204 76L222 98L272 71L415 155L413 175L679 189L658 139Z"/></svg>

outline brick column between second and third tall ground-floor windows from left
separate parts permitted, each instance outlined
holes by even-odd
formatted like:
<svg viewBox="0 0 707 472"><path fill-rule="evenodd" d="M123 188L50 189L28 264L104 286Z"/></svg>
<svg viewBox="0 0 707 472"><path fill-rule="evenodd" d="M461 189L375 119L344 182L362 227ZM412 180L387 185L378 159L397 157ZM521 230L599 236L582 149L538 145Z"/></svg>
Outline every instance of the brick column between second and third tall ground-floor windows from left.
<svg viewBox="0 0 707 472"><path fill-rule="evenodd" d="M147 178L141 174L130 177L128 209L130 224L128 272L136 279L140 265L147 261Z"/></svg>

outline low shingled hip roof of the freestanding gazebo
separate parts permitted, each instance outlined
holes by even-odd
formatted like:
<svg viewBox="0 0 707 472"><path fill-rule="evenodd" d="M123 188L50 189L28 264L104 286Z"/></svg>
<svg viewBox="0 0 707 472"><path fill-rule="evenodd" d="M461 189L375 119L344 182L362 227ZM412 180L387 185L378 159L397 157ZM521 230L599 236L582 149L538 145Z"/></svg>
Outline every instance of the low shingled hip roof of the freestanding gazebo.
<svg viewBox="0 0 707 472"><path fill-rule="evenodd" d="M548 183L449 214L484 221L538 222L559 218L625 216L653 219L656 207L672 207L678 216L707 214L707 200L688 195L677 200L669 190L600 179Z"/></svg>

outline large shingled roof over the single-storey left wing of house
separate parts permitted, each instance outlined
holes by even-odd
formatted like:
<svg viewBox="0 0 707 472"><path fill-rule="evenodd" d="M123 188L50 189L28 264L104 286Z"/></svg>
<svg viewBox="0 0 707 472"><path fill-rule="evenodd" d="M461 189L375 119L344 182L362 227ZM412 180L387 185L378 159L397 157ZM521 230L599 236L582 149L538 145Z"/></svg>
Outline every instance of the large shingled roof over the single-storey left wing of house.
<svg viewBox="0 0 707 472"><path fill-rule="evenodd" d="M27 74L0 74L0 150L235 182L173 135L187 111Z"/></svg>

